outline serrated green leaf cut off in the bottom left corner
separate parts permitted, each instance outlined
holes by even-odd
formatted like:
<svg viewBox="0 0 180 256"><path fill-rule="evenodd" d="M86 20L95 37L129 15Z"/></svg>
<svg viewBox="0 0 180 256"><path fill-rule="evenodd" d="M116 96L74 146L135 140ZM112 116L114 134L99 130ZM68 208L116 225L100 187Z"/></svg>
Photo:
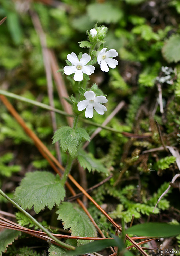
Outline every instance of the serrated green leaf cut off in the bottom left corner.
<svg viewBox="0 0 180 256"><path fill-rule="evenodd" d="M12 244L15 239L20 236L21 232L11 229L5 229L0 232L0 256L2 256L2 252L6 252L6 248L8 245Z"/></svg>

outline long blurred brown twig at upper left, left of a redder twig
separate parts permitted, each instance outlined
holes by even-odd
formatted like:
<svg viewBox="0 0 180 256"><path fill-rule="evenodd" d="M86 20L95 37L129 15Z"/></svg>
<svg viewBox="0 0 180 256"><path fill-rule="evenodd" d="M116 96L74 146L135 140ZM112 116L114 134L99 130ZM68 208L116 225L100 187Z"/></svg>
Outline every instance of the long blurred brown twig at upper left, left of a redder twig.
<svg viewBox="0 0 180 256"><path fill-rule="evenodd" d="M50 106L54 108L54 97L53 97L53 82L52 82L52 75L51 75L51 65L50 65L50 56L49 56L49 51L47 48L47 43L46 43L46 35L42 29L39 17L36 12L29 10L29 13L31 15L32 22L34 24L35 30L37 35L39 35L41 47L42 47L42 55L43 55L43 60L44 60L44 67L46 71L46 80L47 80L47 87L48 87L48 97L49 97L49 102ZM53 131L55 132L57 130L57 124L56 124L56 115L54 111L51 111L51 119L52 119L52 126L53 126ZM61 159L61 154L60 154L60 149L59 149L59 142L55 143L55 149L56 149L56 154L57 158L60 163L62 163Z"/></svg>

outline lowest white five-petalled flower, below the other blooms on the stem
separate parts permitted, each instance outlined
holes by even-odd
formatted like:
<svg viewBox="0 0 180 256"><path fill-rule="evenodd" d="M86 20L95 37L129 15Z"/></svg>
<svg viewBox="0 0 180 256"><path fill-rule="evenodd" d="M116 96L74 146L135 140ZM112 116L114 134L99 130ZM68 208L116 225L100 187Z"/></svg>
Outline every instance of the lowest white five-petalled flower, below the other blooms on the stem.
<svg viewBox="0 0 180 256"><path fill-rule="evenodd" d="M92 118L94 109L100 115L103 115L104 111L107 111L106 107L100 104L108 101L105 96L96 96L93 91L86 91L84 93L84 97L86 100L79 101L77 104L77 109L82 111L86 108L86 117Z"/></svg>

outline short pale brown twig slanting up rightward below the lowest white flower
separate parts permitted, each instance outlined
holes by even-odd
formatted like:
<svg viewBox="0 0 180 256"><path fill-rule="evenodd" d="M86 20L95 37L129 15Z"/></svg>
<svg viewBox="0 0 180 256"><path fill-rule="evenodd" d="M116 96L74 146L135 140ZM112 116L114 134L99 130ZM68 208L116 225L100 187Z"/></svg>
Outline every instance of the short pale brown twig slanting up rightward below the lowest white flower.
<svg viewBox="0 0 180 256"><path fill-rule="evenodd" d="M105 126L107 125L110 120L124 107L125 105L125 101L121 101L117 106L116 108L112 111L112 113L106 118L106 120L102 123L102 126ZM90 141L98 134L100 133L100 131L102 130L101 127L98 127L95 132L93 132L93 134L91 135L91 139ZM84 146L83 146L83 149L85 149L88 145L89 145L89 141L87 141Z"/></svg>

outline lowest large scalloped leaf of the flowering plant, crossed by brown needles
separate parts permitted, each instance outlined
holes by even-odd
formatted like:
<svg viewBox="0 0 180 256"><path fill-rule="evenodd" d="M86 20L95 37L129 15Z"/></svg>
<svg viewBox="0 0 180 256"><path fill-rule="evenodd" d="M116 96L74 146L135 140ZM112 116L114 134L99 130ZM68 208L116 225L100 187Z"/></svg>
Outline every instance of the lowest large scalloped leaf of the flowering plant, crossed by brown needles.
<svg viewBox="0 0 180 256"><path fill-rule="evenodd" d="M58 219L64 229L71 228L72 236L96 237L96 229L85 212L76 203L62 202L59 205ZM77 240L78 245L89 243L89 240Z"/></svg>

